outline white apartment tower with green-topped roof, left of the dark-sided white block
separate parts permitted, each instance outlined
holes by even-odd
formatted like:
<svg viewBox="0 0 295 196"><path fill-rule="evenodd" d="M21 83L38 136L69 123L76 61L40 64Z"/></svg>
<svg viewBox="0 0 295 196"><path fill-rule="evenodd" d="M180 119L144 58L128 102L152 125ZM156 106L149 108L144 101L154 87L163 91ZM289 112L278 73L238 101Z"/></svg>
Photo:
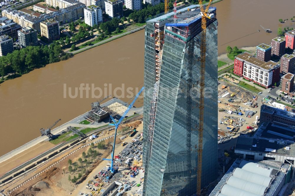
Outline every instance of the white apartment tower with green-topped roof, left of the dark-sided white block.
<svg viewBox="0 0 295 196"><path fill-rule="evenodd" d="M84 8L84 20L85 23L94 26L99 22L102 22L102 11L100 7L96 5L91 5Z"/></svg>

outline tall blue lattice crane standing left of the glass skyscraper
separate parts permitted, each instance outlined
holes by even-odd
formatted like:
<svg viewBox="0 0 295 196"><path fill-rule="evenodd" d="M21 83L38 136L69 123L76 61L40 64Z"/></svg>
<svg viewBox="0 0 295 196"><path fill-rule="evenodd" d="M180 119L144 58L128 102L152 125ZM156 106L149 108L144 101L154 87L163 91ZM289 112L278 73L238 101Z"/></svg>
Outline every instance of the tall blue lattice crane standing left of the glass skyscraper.
<svg viewBox="0 0 295 196"><path fill-rule="evenodd" d="M111 117L111 119L112 119L112 121L113 121L114 123L110 123L109 125L115 126L115 129L116 129L116 131L115 131L115 136L114 136L113 151L112 151L112 154L111 154L112 159L103 159L103 160L111 161L111 167L109 167L109 169L110 169L110 171L111 171L112 173L115 173L115 170L114 170L114 166L113 166L113 164L114 164L114 153L115 153L115 142L116 142L116 136L117 136L117 129L118 129L118 127L119 127L119 124L120 124L120 123L122 122L122 120L125 118L126 114L129 112L130 108L133 106L133 104L135 103L136 99L139 97L140 93L143 91L144 88L145 88L145 87L142 87L142 88L140 89L140 91L137 93L137 95L136 95L135 98L133 99L132 103L129 105L129 107L128 107L127 110L124 112L124 114L121 116L121 118L119 119L118 122L116 122L116 120L110 115L110 117Z"/></svg>

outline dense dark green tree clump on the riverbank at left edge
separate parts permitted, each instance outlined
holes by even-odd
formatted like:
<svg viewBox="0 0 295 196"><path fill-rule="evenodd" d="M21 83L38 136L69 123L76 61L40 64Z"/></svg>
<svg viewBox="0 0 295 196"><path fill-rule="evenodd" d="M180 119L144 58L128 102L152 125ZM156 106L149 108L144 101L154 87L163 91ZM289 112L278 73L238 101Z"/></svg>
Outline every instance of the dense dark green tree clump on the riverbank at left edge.
<svg viewBox="0 0 295 196"><path fill-rule="evenodd" d="M64 53L60 44L53 42L50 46L27 46L14 50L0 57L0 75L9 73L25 74L33 69L44 67L48 63L68 59L72 54Z"/></svg>

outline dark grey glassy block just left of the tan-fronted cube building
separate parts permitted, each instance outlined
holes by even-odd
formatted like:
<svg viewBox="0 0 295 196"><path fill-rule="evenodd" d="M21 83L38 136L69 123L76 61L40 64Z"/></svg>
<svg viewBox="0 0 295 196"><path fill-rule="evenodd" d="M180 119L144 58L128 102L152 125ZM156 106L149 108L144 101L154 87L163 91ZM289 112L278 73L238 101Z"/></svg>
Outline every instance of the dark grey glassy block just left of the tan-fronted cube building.
<svg viewBox="0 0 295 196"><path fill-rule="evenodd" d="M22 47L38 45L37 31L35 29L32 29L31 27L27 26L17 31L17 34L19 44Z"/></svg>

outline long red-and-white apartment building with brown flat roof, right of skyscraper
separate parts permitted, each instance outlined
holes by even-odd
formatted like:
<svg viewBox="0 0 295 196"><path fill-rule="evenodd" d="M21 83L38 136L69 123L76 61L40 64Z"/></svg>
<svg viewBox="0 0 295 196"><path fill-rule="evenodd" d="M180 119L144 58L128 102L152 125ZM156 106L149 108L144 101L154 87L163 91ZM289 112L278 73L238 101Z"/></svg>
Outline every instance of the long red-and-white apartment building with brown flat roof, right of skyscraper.
<svg viewBox="0 0 295 196"><path fill-rule="evenodd" d="M269 88L280 81L280 64L273 61L264 62L248 52L243 52L235 56L234 74Z"/></svg>

